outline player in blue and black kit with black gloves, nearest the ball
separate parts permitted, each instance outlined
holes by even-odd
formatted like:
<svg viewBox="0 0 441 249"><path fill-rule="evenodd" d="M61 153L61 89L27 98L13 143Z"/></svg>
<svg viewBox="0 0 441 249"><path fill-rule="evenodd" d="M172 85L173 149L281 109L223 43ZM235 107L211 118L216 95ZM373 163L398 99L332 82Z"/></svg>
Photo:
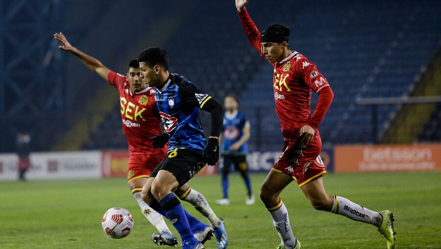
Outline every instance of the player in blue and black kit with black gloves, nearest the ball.
<svg viewBox="0 0 441 249"><path fill-rule="evenodd" d="M168 217L182 238L183 249L202 249L193 230L206 225L190 215L172 193L185 185L205 164L214 166L219 159L222 107L208 94L184 77L169 73L167 52L149 47L138 56L141 78L156 89L156 103L164 132L152 138L153 146L167 142L168 155L155 168L143 188L143 200ZM199 109L211 114L211 134L206 141L200 124ZM228 238L222 220L214 226L218 247L226 248Z"/></svg>

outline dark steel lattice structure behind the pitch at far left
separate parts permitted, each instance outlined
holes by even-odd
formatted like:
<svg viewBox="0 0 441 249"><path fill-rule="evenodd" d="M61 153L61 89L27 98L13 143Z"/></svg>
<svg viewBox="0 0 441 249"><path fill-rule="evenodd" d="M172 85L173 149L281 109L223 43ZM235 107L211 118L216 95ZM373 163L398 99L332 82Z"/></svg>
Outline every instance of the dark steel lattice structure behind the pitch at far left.
<svg viewBox="0 0 441 249"><path fill-rule="evenodd" d="M0 152L14 151L19 131L46 148L59 125L65 90L52 34L63 15L61 0L0 0Z"/></svg>

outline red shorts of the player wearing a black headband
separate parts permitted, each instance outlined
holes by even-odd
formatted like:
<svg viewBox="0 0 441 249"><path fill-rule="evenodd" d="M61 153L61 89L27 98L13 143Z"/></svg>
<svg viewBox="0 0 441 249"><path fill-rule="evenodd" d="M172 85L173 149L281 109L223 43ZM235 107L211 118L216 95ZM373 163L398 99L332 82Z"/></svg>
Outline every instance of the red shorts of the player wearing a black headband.
<svg viewBox="0 0 441 249"><path fill-rule="evenodd" d="M295 143L296 141L285 141L282 149L283 152L275 161L271 170L292 176L297 185L301 187L309 181L325 175L327 172L319 155L321 151L320 136L314 136L311 143L303 149L303 155L300 156L293 155ZM290 161L295 158L297 158L298 163Z"/></svg>

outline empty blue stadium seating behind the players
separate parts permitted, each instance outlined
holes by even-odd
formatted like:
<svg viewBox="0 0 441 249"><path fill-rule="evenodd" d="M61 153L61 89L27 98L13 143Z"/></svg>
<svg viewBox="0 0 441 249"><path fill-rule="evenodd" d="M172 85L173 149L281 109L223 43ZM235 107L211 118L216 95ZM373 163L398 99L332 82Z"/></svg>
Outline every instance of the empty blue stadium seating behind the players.
<svg viewBox="0 0 441 249"><path fill-rule="evenodd" d="M320 125L323 143L374 142L372 109L355 100L405 96L413 90L440 48L441 3L322 0L283 5L254 0L247 8L260 29L275 22L288 24L291 48L315 62L332 86L335 98ZM241 97L241 109L251 121L251 149L280 149L283 138L274 113L273 69L250 46L232 2L197 3L165 49L172 72L186 76L220 102L229 92ZM313 95L314 106L317 95ZM378 136L399 107L379 106ZM438 121L431 121L427 129L440 130L439 113L433 118L438 115ZM126 147L119 112L106 120L112 122L101 124L84 148ZM420 137L426 140L424 134Z"/></svg>

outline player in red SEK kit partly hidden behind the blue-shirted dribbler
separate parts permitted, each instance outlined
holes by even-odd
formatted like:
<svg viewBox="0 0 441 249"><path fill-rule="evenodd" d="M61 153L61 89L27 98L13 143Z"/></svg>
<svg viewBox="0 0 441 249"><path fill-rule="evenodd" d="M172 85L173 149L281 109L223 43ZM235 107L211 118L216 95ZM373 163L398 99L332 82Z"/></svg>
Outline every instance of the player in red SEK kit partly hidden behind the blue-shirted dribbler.
<svg viewBox="0 0 441 249"><path fill-rule="evenodd" d="M149 138L161 133L161 120L155 101L156 91L147 87L140 79L140 68L137 60L129 62L125 76L117 74L97 59L84 54L73 47L62 33L55 33L54 38L61 42L60 49L71 52L92 71L115 86L120 93L121 118L123 130L129 145L129 163L127 182L133 196L141 207L147 220L158 229L159 233L152 235L152 240L157 245L177 245L177 239L172 235L161 214L149 207L141 198L141 190L147 178L156 166L167 155L165 148L155 149ZM195 189L183 185L176 190L176 194L184 201L191 203L212 224L218 226L220 219L208 205L205 198ZM213 228L204 227L195 230L199 241L207 240L213 236Z"/></svg>

